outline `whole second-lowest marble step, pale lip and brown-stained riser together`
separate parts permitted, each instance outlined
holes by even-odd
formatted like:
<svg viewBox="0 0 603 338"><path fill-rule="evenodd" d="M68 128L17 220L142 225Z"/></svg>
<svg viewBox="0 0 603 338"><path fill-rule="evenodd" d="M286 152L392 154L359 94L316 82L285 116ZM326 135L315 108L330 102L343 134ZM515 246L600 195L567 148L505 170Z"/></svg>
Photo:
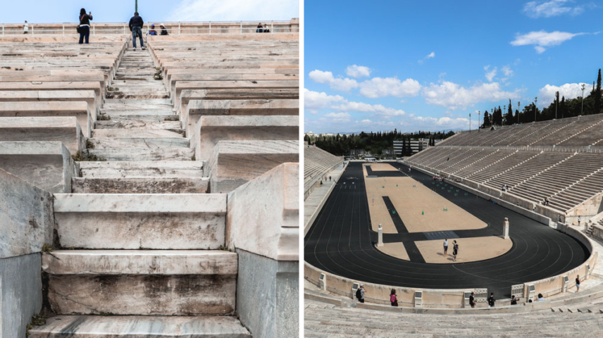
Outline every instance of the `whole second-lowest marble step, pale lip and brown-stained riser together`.
<svg viewBox="0 0 603 338"><path fill-rule="evenodd" d="M230 315L237 254L223 250L58 250L42 256L61 315Z"/></svg>

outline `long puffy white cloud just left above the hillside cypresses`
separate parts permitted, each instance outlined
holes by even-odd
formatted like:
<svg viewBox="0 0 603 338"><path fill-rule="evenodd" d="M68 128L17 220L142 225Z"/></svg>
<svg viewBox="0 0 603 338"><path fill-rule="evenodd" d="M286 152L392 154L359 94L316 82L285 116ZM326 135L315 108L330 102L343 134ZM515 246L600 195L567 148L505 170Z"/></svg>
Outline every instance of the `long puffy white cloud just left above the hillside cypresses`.
<svg viewBox="0 0 603 338"><path fill-rule="evenodd" d="M466 109L480 102L496 102L502 99L516 99L519 91L505 92L498 82L475 84L465 88L454 82L431 83L423 88L423 96L428 104L444 106L454 111Z"/></svg>

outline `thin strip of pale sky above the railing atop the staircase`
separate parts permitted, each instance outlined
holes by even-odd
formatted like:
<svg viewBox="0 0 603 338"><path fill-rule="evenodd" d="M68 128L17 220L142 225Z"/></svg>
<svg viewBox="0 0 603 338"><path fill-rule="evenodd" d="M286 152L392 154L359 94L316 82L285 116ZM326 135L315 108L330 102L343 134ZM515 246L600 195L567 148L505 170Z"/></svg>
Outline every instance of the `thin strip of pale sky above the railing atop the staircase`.
<svg viewBox="0 0 603 338"><path fill-rule="evenodd" d="M124 22L134 13L134 4L135 0L6 0L0 23L74 23L82 7L99 23ZM290 20L299 18L299 1L139 0L138 11L148 21Z"/></svg>

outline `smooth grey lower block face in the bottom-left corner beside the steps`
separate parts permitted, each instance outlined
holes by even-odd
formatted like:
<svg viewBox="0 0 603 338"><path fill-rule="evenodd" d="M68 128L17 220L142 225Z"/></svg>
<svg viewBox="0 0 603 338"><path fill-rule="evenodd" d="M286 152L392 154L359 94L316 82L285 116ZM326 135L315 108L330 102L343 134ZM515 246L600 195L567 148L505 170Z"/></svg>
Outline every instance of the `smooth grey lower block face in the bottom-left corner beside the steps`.
<svg viewBox="0 0 603 338"><path fill-rule="evenodd" d="M0 186L2 182L0 170ZM0 202L2 195L0 194ZM0 206L2 218L6 218ZM0 230L4 229L0 220ZM0 233L0 251L4 246ZM4 256L3 256L4 257ZM25 337L32 315L42 308L42 275L39 253L0 258L0 337Z"/></svg>

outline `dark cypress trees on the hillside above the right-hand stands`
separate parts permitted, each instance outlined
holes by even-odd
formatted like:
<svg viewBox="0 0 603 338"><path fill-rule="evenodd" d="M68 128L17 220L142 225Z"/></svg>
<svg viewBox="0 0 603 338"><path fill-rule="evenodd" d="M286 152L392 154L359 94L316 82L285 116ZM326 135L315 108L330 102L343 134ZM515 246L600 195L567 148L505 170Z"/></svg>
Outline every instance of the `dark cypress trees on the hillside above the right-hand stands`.
<svg viewBox="0 0 603 338"><path fill-rule="evenodd" d="M505 105L503 108L498 106L491 108L490 111L484 111L483 123L480 125L480 128L492 127L492 125L514 125L603 113L601 69L599 69L596 83L596 85L595 82L592 83L590 92L588 92L588 87L583 86L583 94L587 95L584 96L584 100L582 96L575 99L566 99L565 96L561 96L561 99L559 99L559 92L556 92L554 101L548 107L542 108L542 110L537 107L537 97L528 106L523 106L521 111L519 111L521 101L517 102L517 105L514 106L509 99L509 106ZM516 107L515 111L513 110L514 107Z"/></svg>

